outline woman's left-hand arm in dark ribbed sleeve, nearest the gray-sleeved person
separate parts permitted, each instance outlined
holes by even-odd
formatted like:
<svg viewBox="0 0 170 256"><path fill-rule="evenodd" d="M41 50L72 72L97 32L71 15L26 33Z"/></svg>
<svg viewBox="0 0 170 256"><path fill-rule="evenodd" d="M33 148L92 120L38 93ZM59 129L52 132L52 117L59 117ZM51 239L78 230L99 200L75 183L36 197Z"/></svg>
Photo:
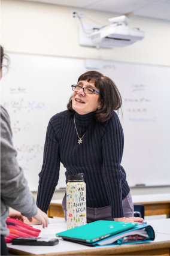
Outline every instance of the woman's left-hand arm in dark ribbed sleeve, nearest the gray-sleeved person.
<svg viewBox="0 0 170 256"><path fill-rule="evenodd" d="M59 118L54 122L54 127L53 124L51 124L51 121L48 124L42 170L39 174L40 180L38 186L37 206L45 213L47 213L48 206L59 180L59 140L57 138L58 134L56 134L54 129L57 132L60 129Z"/></svg>

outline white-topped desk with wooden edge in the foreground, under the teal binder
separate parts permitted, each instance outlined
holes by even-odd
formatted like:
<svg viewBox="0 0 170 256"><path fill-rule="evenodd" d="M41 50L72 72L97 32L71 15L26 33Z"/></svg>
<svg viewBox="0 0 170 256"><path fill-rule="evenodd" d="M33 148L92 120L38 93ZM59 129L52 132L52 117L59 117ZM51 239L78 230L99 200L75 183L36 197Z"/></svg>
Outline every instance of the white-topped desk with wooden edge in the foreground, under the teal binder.
<svg viewBox="0 0 170 256"><path fill-rule="evenodd" d="M89 246L67 242L59 239L59 244L55 246L19 246L8 243L8 251L14 256L169 256L170 255L170 219L157 219L150 221L153 226L156 239L150 243L139 245L117 245L102 246L101 248L89 248ZM40 228L41 237L55 237L55 234L66 230L66 221L63 219L50 219L48 228Z"/></svg>

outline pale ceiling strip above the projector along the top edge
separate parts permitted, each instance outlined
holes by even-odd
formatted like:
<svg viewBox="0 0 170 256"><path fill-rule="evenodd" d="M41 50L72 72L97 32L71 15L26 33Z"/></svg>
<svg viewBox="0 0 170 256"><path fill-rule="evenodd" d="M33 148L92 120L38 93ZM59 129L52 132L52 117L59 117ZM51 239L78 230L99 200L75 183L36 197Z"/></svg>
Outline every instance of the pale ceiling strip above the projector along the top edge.
<svg viewBox="0 0 170 256"><path fill-rule="evenodd" d="M170 21L170 0L26 0Z"/></svg>

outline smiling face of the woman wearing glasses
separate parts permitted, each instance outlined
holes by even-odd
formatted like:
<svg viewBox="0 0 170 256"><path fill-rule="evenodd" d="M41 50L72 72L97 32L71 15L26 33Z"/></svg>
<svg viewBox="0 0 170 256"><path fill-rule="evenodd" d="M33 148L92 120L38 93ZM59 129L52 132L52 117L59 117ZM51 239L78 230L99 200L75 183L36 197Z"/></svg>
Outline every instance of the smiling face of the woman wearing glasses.
<svg viewBox="0 0 170 256"><path fill-rule="evenodd" d="M77 85L80 85L83 88L92 88L99 92L99 89L95 87L95 83L92 80L90 80L90 82L80 81ZM79 115L86 115L96 111L98 107L101 108L101 105L100 95L97 92L93 92L93 94L84 94L83 89L80 89L78 92L72 94L72 109Z"/></svg>

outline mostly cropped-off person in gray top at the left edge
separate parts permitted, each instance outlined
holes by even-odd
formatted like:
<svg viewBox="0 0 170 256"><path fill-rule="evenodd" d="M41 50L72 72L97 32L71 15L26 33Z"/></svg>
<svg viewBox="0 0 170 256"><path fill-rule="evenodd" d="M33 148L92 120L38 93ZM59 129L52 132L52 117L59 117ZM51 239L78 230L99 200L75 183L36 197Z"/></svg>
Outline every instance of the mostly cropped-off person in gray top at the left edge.
<svg viewBox="0 0 170 256"><path fill-rule="evenodd" d="M2 78L2 62L8 59L0 45L0 80ZM32 221L48 225L48 217L37 208L34 197L29 191L23 171L16 161L16 150L13 147L10 118L7 111L0 105L0 256L7 256L7 246L4 237L9 231L5 223L7 217L19 218L24 221L25 216ZM11 209L9 213L9 206ZM24 215L24 216L23 216Z"/></svg>

